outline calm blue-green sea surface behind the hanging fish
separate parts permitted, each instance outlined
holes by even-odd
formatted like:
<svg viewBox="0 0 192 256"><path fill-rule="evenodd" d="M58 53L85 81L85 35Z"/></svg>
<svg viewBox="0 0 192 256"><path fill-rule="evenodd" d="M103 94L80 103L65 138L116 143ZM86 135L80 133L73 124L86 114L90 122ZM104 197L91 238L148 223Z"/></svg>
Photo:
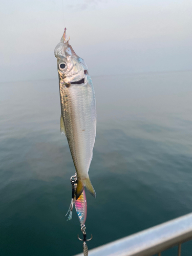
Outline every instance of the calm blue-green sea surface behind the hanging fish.
<svg viewBox="0 0 192 256"><path fill-rule="evenodd" d="M90 249L192 211L191 81L192 72L93 77ZM82 252L76 212L65 217L75 169L58 80L1 83L0 107L0 255ZM192 243L182 247L191 256Z"/></svg>

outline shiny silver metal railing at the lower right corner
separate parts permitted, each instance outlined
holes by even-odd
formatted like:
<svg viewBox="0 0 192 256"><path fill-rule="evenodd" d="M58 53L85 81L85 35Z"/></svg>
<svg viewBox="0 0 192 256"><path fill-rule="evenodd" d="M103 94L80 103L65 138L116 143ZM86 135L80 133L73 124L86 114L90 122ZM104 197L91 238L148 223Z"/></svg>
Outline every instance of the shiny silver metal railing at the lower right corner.
<svg viewBox="0 0 192 256"><path fill-rule="evenodd" d="M191 239L192 213L99 246L90 250L89 256L161 256L162 251L174 246L181 256L181 244Z"/></svg>

